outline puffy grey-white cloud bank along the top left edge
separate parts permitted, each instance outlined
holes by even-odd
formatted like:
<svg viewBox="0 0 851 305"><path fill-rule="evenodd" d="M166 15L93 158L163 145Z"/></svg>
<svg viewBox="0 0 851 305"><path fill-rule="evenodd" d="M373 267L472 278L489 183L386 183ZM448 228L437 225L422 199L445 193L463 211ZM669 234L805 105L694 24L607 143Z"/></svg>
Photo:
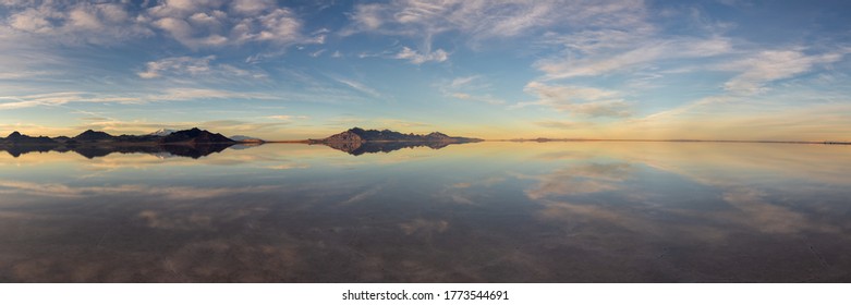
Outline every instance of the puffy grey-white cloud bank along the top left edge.
<svg viewBox="0 0 851 305"><path fill-rule="evenodd" d="M63 44L113 45L161 33L191 49L248 42L321 44L325 36L302 34L302 21L290 9L264 0L168 0L153 4L46 1L10 7L0 24Z"/></svg>

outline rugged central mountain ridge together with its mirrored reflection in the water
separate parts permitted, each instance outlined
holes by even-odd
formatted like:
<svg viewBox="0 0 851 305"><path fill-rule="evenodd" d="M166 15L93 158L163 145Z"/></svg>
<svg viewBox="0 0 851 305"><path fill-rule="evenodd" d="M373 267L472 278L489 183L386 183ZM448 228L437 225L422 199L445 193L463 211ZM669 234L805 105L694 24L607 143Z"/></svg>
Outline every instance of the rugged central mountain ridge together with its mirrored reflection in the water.
<svg viewBox="0 0 851 305"><path fill-rule="evenodd" d="M376 131L354 127L324 139L309 139L311 144L324 144L331 148L362 155L366 152L390 152L406 147L426 146L434 149L443 148L450 144L481 142L479 138L448 136L439 132L427 135L403 134L390 130Z"/></svg>

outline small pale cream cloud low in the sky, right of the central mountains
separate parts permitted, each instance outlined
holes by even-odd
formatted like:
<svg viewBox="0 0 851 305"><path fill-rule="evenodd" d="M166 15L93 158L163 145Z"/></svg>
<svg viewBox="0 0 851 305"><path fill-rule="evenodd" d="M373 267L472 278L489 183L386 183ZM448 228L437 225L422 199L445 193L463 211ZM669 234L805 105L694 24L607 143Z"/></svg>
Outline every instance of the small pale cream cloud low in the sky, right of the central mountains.
<svg viewBox="0 0 851 305"><path fill-rule="evenodd" d="M588 117L624 118L632 114L630 103L620 94L593 87L547 85L531 82L523 88L530 95L538 97L537 101L521 102L514 106L530 105L548 106L557 111L568 111Z"/></svg>

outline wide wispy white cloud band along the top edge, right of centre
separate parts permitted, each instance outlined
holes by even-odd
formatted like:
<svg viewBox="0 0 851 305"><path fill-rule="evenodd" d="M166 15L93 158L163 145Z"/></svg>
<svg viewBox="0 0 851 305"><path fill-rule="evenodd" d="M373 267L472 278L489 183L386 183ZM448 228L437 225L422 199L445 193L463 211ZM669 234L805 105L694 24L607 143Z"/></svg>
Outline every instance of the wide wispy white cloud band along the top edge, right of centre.
<svg viewBox="0 0 851 305"><path fill-rule="evenodd" d="M642 1L397 0L355 5L347 34L429 37L457 30L478 40L515 37L561 24L627 25L642 15Z"/></svg>

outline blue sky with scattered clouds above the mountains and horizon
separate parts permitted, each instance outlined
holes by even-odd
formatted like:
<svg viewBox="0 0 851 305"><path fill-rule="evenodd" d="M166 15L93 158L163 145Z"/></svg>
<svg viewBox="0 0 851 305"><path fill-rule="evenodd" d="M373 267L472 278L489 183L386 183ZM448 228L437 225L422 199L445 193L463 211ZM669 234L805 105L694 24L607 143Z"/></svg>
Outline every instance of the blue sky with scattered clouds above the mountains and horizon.
<svg viewBox="0 0 851 305"><path fill-rule="evenodd" d="M851 141L848 1L0 0L0 134Z"/></svg>

